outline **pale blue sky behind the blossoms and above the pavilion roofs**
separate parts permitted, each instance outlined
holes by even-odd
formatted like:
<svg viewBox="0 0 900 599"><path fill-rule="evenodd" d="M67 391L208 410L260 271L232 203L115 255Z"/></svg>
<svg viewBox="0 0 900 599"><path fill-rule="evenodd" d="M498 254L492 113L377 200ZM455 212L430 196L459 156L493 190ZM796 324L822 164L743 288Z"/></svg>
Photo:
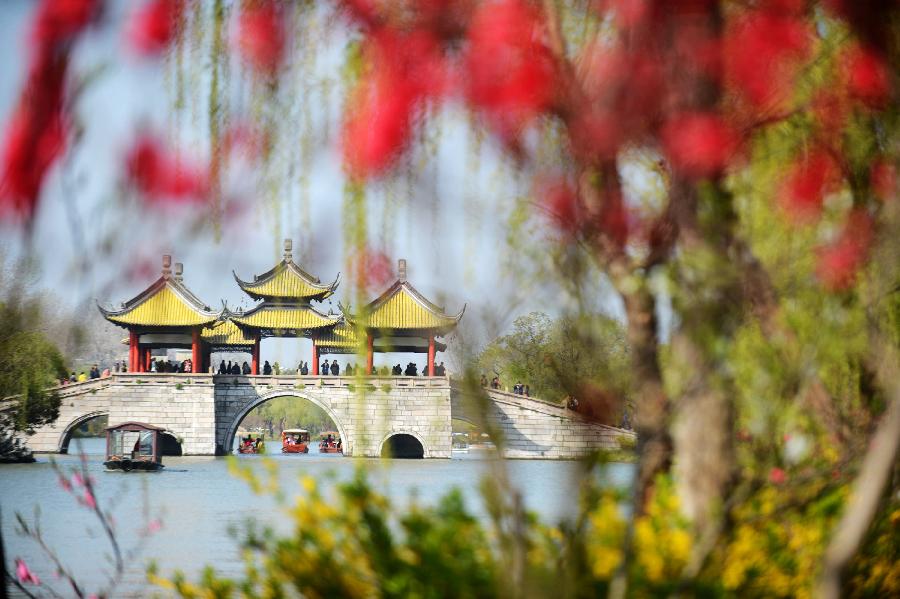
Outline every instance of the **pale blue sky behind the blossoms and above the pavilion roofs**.
<svg viewBox="0 0 900 599"><path fill-rule="evenodd" d="M24 77L28 25L36 4L0 3L4 130ZM0 251L7 265L27 256L34 288L51 291L74 310L93 310L95 301L118 305L133 297L158 277L164 253L184 263L186 284L211 307L221 307L223 300L231 308L250 307L253 302L237 287L232 271L246 280L269 270L281 258L285 237L294 240L295 259L305 270L323 281L333 280L347 256L336 94L314 96L306 106L301 104L302 90L296 98L286 94L291 106L308 111L303 114L317 131L308 184L282 185L284 197L273 200L265 176L239 165L226 179L231 216L218 235L205 207L147 206L123 188L122 155L142 127L156 127L170 136L175 131L188 148L195 145L201 152L208 143L202 127L192 127L183 115L173 116L166 68L126 47L123 23L137 5L111 2L103 22L79 45L75 71L93 77L75 103L81 131L77 151L51 172L30 230L0 224ZM342 42L340 36L323 40L331 46L319 50L316 68L339 69ZM445 110L440 127L430 135L435 154L419 169L414 184L376 186L370 194L371 246L393 263L405 258L410 282L448 313L457 313L465 304L464 328L476 345L508 330L519 315L534 310L557 313L569 298L552 280L518 276L530 266L507 243L509 219L527 185L489 141L478 146L478 153L471 151L476 142L458 108ZM297 145L301 151L299 141ZM292 175L296 177L284 170L284 177ZM307 199L299 199L303 196ZM337 300L348 303L350 298L342 297L348 289L345 273L335 300L320 308L327 312L337 310ZM378 290L371 293L374 299ZM621 318L617 298L599 277L593 295L598 310ZM308 340L271 339L262 345L263 359L287 365L310 353ZM376 364L405 364L410 359L423 361L421 356L387 356Z"/></svg>

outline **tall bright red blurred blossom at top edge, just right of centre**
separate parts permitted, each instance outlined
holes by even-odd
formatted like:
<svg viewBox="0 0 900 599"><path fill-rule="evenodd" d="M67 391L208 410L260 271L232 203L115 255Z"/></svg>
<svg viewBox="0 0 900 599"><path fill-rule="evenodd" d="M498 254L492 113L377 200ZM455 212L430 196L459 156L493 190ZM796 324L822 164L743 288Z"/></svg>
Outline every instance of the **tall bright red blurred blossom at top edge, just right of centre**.
<svg viewBox="0 0 900 599"><path fill-rule="evenodd" d="M544 36L542 16L522 0L486 2L472 18L468 98L506 139L553 102L556 66Z"/></svg>

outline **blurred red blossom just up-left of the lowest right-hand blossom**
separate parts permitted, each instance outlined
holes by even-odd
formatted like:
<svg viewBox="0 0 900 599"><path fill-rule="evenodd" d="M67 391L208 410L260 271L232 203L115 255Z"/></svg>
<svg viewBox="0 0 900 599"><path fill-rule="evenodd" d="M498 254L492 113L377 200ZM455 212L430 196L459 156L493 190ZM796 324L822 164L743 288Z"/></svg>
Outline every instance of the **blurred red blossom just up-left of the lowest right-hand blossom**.
<svg viewBox="0 0 900 599"><path fill-rule="evenodd" d="M824 196L840 181L840 169L826 152L816 151L793 165L781 189L780 202L797 222L818 218Z"/></svg>

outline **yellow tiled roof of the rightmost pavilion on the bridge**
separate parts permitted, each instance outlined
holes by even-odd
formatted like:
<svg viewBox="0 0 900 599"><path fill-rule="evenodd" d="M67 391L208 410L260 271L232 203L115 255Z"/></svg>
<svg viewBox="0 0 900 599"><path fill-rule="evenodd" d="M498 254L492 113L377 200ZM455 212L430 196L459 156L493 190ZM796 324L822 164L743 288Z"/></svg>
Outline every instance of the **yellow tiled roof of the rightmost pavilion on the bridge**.
<svg viewBox="0 0 900 599"><path fill-rule="evenodd" d="M368 310L364 322L375 329L444 329L459 319L444 314L406 282L395 283Z"/></svg>

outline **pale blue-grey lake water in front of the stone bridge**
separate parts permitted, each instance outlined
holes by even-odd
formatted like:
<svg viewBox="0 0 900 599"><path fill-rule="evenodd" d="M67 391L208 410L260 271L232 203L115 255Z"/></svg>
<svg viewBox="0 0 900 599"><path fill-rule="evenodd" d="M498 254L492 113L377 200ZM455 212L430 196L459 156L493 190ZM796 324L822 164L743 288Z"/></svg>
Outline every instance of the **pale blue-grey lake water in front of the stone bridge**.
<svg viewBox="0 0 900 599"><path fill-rule="evenodd" d="M103 467L104 440L82 439L70 445L73 455L54 456L56 461L62 466L77 464L79 457L74 453L79 442L97 480L98 503L111 509L126 548L134 546L130 535L146 523L145 514L159 514L163 522L163 528L147 539L139 555L129 562L116 596L148 594L145 571L150 558L156 560L163 574L181 569L190 579L196 579L205 565L230 574L241 572L238 542L228 531L248 518L284 532L290 530L289 520L274 500L254 495L244 482L228 473L226 458L166 457L166 468L160 473L113 473ZM420 504L431 505L457 487L469 508L484 515L478 484L490 468L486 452L454 454L450 460L378 460L319 455L316 451L312 447L307 455L269 456L278 465L281 488L288 496L303 493L299 484L302 475L328 485L329 476L346 480L363 466L374 488L390 497L398 511L404 510L412 497ZM263 474L262 456L238 456L238 460ZM583 476L578 462L515 460L506 465L527 509L542 520L556 522L575 513L576 490ZM626 486L632 480L633 467L611 464L604 476L611 485ZM46 541L89 589L99 590L109 568L105 557L108 546L93 516L60 488L49 456L38 456L36 464L0 466L0 484L7 562L22 557L43 580L54 581L53 569L35 543L15 532L14 514L34 523L38 508Z"/></svg>

